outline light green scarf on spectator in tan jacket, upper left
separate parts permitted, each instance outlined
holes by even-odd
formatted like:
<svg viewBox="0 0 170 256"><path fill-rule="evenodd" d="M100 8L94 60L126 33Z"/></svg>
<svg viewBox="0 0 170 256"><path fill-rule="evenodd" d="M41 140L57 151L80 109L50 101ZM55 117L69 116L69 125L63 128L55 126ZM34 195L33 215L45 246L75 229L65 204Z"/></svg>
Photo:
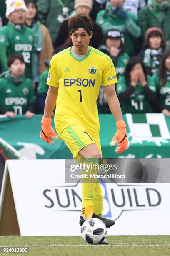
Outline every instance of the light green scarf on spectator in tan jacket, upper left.
<svg viewBox="0 0 170 256"><path fill-rule="evenodd" d="M43 34L42 34L41 23L39 20L34 21L32 23L32 30L35 38L35 49L37 51L42 51L43 50Z"/></svg>

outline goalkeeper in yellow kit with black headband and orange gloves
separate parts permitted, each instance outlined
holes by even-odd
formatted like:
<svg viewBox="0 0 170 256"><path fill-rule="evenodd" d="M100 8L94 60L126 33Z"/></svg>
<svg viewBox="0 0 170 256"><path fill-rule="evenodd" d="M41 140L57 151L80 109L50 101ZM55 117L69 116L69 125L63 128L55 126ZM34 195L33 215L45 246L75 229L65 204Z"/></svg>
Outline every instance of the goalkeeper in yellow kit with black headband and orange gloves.
<svg viewBox="0 0 170 256"><path fill-rule="evenodd" d="M50 126L56 105L54 121L60 139L65 142L74 158L83 158L86 164L96 165L102 154L96 105L102 83L117 126L110 145L114 146L118 142L118 154L128 149L126 125L115 92L115 67L109 56L89 46L93 29L89 17L82 14L72 16L68 21L68 28L73 47L55 54L50 62L47 79L50 86L40 136L52 145L52 137L58 139ZM93 172L92 169L90 171ZM106 227L115 224L113 220L102 218L102 191L97 179L93 183L82 183L80 225L88 218L98 218ZM108 243L107 239L103 242Z"/></svg>

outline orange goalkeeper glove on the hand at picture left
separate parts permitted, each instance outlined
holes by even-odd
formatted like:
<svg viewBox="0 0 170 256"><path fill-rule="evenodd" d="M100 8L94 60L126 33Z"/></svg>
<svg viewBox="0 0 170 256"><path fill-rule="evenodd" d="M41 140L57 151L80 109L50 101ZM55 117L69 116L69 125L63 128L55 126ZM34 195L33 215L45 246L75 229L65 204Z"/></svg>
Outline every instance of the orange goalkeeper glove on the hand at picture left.
<svg viewBox="0 0 170 256"><path fill-rule="evenodd" d="M57 141L58 136L51 127L51 118L45 118L43 117L41 120L42 126L41 126L41 132L40 137L46 141L47 143L50 143L51 145L54 145L54 141L52 140L52 137Z"/></svg>

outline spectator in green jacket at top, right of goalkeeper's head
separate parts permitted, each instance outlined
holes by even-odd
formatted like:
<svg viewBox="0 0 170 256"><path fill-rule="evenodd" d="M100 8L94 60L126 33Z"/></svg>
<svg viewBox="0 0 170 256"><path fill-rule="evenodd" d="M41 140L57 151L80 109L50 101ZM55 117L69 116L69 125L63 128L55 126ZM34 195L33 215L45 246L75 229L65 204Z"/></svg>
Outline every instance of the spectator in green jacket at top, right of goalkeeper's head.
<svg viewBox="0 0 170 256"><path fill-rule="evenodd" d="M124 34L125 52L129 56L135 54L135 39L140 37L141 29L135 14L123 10L124 0L110 0L106 9L97 13L96 23L106 35L110 29L117 29Z"/></svg>

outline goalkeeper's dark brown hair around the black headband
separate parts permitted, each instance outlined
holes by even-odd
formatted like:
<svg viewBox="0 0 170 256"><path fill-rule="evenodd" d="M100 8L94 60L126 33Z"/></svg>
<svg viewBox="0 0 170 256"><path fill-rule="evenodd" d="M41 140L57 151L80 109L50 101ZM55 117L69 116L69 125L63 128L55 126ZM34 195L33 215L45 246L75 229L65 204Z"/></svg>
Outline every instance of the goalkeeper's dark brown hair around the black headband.
<svg viewBox="0 0 170 256"><path fill-rule="evenodd" d="M72 16L68 20L68 29L71 33L73 33L78 28L84 28L90 36L90 31L93 30L93 22L91 18L84 14L77 14Z"/></svg>

